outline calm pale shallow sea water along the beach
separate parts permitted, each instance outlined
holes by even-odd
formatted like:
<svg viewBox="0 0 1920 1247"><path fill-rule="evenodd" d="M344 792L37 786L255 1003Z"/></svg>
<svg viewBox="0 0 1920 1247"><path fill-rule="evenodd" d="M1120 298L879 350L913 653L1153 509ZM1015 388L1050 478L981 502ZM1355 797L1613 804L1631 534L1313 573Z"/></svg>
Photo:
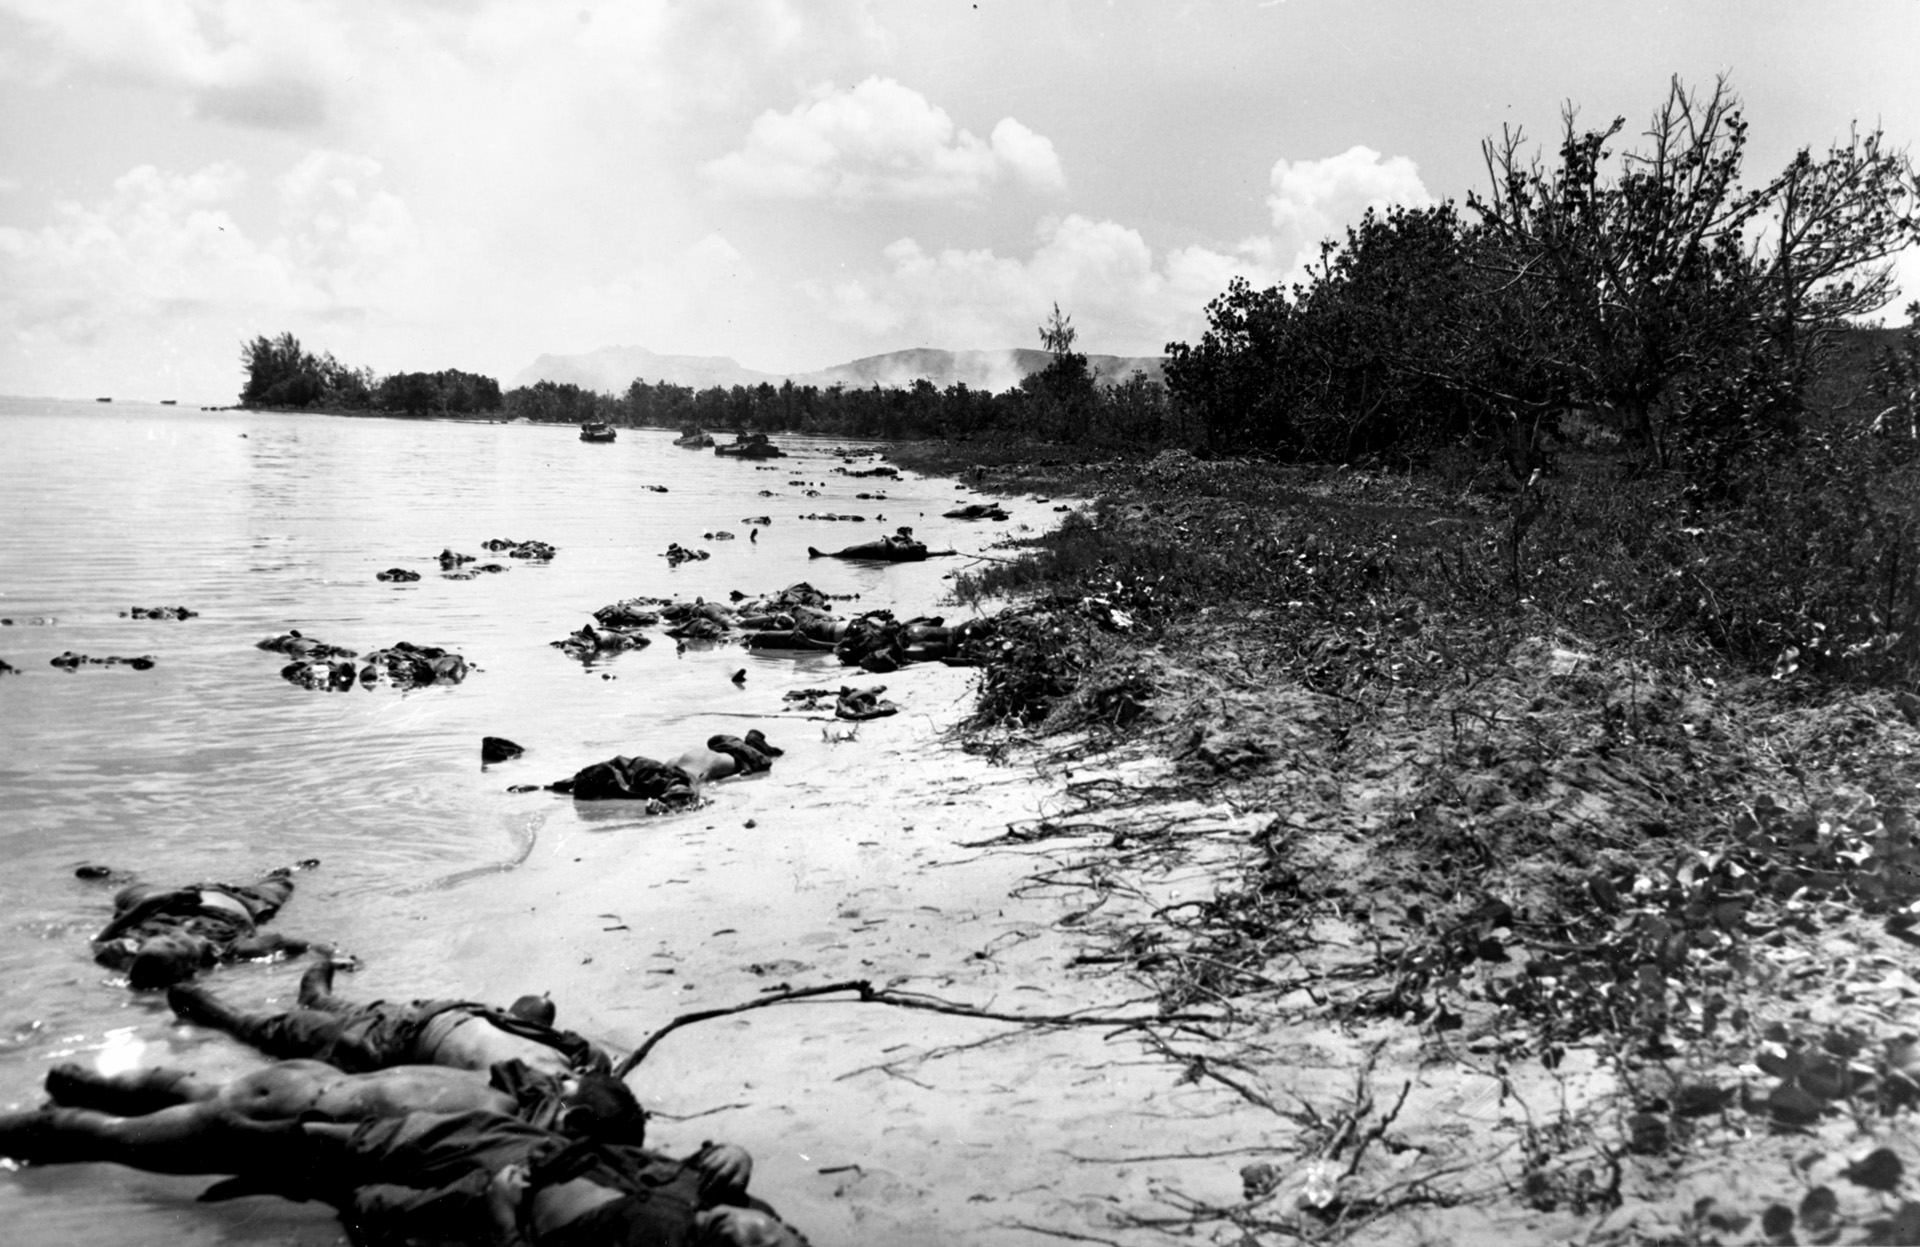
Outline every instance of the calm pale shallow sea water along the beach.
<svg viewBox="0 0 1920 1247"><path fill-rule="evenodd" d="M246 882L317 857L280 928L430 978L434 932L378 949L353 934L396 895L457 893L463 872L511 865L545 819L563 817L563 803L509 795L509 784L612 753L672 757L753 722L778 742L778 694L843 672L829 655L678 653L670 638L582 669L547 642L618 598L726 598L795 580L929 611L954 559L808 563L806 548L912 525L935 550L979 550L1020 521L1052 519L1016 503L1014 525L943 521L966 498L948 480L833 475L831 444L780 442L793 457L755 465L678 450L655 430L597 446L570 427L0 398L0 617L12 621L0 659L21 672L0 676L0 1107L38 1103L56 1061L169 1057L165 1005L90 961L113 886L75 878L83 863L156 882ZM668 492L645 488L655 484ZM820 511L868 523L799 519ZM758 515L772 525L749 542L741 521ZM735 540L705 540L712 530ZM538 538L559 555L505 559L482 550L488 538ZM668 569L670 542L712 557ZM511 569L445 578L442 548ZM420 580L376 580L388 567ZM136 621L125 615L136 605L200 617ZM280 655L255 649L290 628L359 651L444 646L476 671L453 688L307 692L280 680ZM156 665L48 665L69 649ZM745 688L728 680L741 667ZM482 736L530 755L482 770ZM204 1186L113 1166L0 1174L0 1239L342 1237L326 1209L186 1203Z"/></svg>

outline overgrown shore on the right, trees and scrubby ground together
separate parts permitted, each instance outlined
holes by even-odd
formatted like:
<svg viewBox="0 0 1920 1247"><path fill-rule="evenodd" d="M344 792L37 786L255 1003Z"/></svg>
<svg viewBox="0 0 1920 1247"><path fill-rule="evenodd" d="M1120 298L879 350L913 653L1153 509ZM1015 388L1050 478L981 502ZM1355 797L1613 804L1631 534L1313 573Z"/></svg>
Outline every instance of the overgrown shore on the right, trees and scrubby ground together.
<svg viewBox="0 0 1920 1247"><path fill-rule="evenodd" d="M1743 138L1676 86L1490 142L1215 300L1188 446L895 452L1091 500L958 582L1016 599L973 747L1066 786L991 844L1271 1116L1240 1201L1117 1224L1920 1241L1920 336L1855 323L1914 175Z"/></svg>

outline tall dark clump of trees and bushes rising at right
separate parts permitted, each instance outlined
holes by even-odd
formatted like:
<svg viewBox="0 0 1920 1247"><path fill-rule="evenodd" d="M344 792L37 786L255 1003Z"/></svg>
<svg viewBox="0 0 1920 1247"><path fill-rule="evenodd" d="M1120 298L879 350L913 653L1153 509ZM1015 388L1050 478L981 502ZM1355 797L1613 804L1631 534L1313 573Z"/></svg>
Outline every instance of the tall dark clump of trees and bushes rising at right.
<svg viewBox="0 0 1920 1247"><path fill-rule="evenodd" d="M1500 450L1524 478L1596 434L1653 469L1720 480L1807 434L1836 342L1895 298L1920 242L1914 169L1876 131L1743 184L1726 79L1678 79L1634 144L1624 119L1557 156L1482 144L1467 209L1369 211L1304 282L1235 281L1167 386L1221 448L1300 459Z"/></svg>

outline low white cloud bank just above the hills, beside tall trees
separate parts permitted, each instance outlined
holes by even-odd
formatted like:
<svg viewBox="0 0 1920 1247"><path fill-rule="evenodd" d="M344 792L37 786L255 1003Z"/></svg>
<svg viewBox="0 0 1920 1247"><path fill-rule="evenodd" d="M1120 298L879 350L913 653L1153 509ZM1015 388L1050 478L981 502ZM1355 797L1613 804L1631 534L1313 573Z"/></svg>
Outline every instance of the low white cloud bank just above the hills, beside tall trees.
<svg viewBox="0 0 1920 1247"><path fill-rule="evenodd" d="M1139 231L1083 215L1044 217L1033 252L927 250L912 238L885 248L885 271L808 286L822 309L895 346L995 350L1037 346L1054 302L1081 330L1081 350L1160 354L1171 338L1198 334L1202 307L1233 275L1271 284L1271 250L1187 246L1156 257Z"/></svg>

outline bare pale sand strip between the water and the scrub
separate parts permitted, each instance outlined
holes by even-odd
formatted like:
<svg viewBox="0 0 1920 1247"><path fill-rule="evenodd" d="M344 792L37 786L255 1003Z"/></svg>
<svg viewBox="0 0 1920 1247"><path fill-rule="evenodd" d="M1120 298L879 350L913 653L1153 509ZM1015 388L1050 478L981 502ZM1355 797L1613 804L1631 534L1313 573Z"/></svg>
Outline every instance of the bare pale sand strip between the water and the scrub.
<svg viewBox="0 0 1920 1247"><path fill-rule="evenodd" d="M787 755L714 786L705 811L549 820L520 868L459 890L449 984L482 999L551 991L563 1024L620 1049L682 1013L852 978L1002 1013L1152 1013L1123 980L1069 966L1079 945L1056 922L1085 895L1014 895L1044 861L962 847L1043 815L1056 790L950 738L970 674L889 676L910 709L851 742L822 738L845 730L831 721L764 721ZM849 997L680 1028L630 1082L659 1114L659 1145L745 1145L755 1189L818 1245L1039 1243L1110 1234L1106 1212L1148 1210L1156 1178L1238 1193L1236 1162L1110 1161L1185 1151L1175 1120L1227 1107L1179 1074L1104 1028ZM1231 1141L1223 1128L1258 1139L1258 1122L1217 1122L1212 1147Z"/></svg>

